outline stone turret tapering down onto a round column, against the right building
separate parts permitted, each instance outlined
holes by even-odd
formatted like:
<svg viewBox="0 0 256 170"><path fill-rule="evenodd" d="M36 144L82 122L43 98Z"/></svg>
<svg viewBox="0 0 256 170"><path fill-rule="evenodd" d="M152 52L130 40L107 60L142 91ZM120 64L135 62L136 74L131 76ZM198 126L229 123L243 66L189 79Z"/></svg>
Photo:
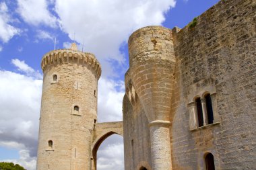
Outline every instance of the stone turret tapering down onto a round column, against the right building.
<svg viewBox="0 0 256 170"><path fill-rule="evenodd" d="M129 38L129 72L150 122L152 169L172 169L170 105L175 56L172 30L161 26L141 28Z"/></svg>

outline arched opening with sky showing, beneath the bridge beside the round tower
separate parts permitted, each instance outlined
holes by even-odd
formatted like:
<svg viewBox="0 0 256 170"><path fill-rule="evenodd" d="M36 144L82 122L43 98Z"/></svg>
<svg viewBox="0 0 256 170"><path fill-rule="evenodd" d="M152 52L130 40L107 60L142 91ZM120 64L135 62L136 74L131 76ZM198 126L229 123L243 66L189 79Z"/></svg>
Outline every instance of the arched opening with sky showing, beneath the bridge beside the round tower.
<svg viewBox="0 0 256 170"><path fill-rule="evenodd" d="M94 170L124 169L123 136L116 132L104 134L92 150Z"/></svg>

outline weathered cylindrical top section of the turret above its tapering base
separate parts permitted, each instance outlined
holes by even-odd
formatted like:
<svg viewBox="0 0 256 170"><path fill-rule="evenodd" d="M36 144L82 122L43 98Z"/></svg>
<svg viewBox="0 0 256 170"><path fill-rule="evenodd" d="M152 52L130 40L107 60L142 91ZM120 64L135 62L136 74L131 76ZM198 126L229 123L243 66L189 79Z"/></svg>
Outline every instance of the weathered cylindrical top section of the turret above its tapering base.
<svg viewBox="0 0 256 170"><path fill-rule="evenodd" d="M147 26L133 32L128 40L129 64L146 62L151 59L167 59L175 61L172 48L172 30L162 26Z"/></svg>

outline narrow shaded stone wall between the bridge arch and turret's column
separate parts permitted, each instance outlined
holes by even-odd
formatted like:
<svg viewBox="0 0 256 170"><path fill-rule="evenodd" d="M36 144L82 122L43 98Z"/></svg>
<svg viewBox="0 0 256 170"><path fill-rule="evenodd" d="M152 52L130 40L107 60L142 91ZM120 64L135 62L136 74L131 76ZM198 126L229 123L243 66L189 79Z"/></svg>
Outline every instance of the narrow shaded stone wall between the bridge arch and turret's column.
<svg viewBox="0 0 256 170"><path fill-rule="evenodd" d="M123 100L125 170L139 169L142 166L151 170L148 118L139 101L133 105L133 108L131 101L125 95Z"/></svg>

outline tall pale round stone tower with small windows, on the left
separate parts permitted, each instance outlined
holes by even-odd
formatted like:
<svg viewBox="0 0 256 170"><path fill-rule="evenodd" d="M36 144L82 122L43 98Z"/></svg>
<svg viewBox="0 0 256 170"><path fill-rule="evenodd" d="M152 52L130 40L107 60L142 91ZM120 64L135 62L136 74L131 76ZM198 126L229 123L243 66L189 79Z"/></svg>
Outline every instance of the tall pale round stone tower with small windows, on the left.
<svg viewBox="0 0 256 170"><path fill-rule="evenodd" d="M44 73L37 170L90 170L91 131L97 120L100 63L90 53L53 50Z"/></svg>

